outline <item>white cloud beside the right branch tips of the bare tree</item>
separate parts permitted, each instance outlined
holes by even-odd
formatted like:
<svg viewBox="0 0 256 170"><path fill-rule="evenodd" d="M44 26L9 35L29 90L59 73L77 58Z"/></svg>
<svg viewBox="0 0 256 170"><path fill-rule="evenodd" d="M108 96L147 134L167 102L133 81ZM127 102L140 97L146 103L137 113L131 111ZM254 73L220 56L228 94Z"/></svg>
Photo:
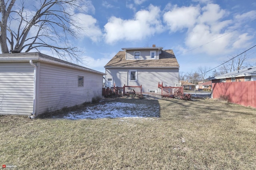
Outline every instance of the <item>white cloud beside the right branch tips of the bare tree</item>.
<svg viewBox="0 0 256 170"><path fill-rule="evenodd" d="M90 15L86 14L77 14L78 24L80 27L84 29L79 32L80 37L89 37L93 42L100 41L102 37L102 31L100 27L97 25L97 20Z"/></svg>

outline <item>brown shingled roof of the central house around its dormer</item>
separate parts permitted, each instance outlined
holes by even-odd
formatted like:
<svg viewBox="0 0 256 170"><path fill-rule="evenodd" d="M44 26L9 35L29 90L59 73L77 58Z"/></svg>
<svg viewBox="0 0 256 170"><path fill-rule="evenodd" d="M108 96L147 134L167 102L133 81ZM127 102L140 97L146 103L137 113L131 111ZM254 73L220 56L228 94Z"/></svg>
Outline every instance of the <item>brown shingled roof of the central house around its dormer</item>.
<svg viewBox="0 0 256 170"><path fill-rule="evenodd" d="M158 47L157 47L158 48ZM105 66L105 68L179 68L178 61L172 50L162 50L159 59L148 60L126 60L126 52L119 51Z"/></svg>

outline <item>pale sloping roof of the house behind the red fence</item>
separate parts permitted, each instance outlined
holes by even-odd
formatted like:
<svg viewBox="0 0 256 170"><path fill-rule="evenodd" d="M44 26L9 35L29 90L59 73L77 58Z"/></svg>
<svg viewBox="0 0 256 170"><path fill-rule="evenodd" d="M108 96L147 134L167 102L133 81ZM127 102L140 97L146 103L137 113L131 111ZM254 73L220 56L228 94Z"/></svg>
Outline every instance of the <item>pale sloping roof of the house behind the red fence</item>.
<svg viewBox="0 0 256 170"><path fill-rule="evenodd" d="M214 79L221 79L221 78L243 77L243 76L256 76L256 66L245 68L245 69L234 71L234 72L229 72L229 73L222 74L220 76L215 76L209 79L214 80Z"/></svg>

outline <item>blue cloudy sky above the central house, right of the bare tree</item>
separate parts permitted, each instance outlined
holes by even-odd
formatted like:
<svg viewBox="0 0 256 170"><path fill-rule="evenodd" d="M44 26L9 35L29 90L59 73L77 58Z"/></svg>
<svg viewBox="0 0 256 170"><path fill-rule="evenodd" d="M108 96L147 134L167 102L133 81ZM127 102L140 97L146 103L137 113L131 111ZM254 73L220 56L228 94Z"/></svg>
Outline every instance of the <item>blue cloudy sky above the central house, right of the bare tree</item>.
<svg viewBox="0 0 256 170"><path fill-rule="evenodd" d="M212 69L256 45L255 0L84 0L86 27L73 42L83 66L104 66L122 48L172 49L180 72ZM256 64L256 47L247 51Z"/></svg>

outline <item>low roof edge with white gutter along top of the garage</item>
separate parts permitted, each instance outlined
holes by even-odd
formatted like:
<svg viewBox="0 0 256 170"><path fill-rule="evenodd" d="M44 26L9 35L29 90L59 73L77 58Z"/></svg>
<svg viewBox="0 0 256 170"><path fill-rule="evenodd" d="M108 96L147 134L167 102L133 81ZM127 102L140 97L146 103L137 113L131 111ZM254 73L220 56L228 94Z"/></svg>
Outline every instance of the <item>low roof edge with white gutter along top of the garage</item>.
<svg viewBox="0 0 256 170"><path fill-rule="evenodd" d="M42 61L42 62L51 63L51 64L58 64L58 65L76 68L76 69L80 69L80 70L84 70L84 71L88 71L88 72L94 72L94 73L102 74L102 75L105 74L103 72L92 70L90 68L86 68L84 66L70 63L68 61L57 59L55 57L51 57L49 55L45 55L45 54L38 53L38 52L0 54L0 62L29 62L30 60L32 60L33 62Z"/></svg>

